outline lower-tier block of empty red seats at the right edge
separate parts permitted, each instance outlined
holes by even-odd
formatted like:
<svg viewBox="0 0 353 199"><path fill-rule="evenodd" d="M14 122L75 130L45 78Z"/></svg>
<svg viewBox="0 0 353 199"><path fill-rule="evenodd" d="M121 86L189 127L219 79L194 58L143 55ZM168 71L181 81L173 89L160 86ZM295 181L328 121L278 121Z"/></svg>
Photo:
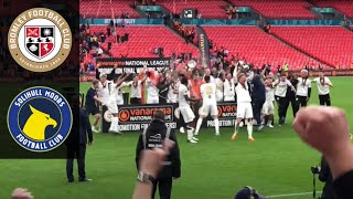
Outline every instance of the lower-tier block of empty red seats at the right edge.
<svg viewBox="0 0 353 199"><path fill-rule="evenodd" d="M288 43L330 63L353 62L353 33L341 27L272 27L272 33Z"/></svg>

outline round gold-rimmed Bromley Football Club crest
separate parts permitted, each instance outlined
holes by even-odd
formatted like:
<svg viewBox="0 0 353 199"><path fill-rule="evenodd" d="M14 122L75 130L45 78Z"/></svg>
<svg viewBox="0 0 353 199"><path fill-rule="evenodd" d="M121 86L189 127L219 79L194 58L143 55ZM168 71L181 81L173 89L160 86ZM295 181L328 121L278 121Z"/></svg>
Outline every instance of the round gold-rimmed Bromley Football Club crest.
<svg viewBox="0 0 353 199"><path fill-rule="evenodd" d="M8 45L19 65L33 72L47 72L66 60L72 48L72 33L57 12L34 8L14 19Z"/></svg>

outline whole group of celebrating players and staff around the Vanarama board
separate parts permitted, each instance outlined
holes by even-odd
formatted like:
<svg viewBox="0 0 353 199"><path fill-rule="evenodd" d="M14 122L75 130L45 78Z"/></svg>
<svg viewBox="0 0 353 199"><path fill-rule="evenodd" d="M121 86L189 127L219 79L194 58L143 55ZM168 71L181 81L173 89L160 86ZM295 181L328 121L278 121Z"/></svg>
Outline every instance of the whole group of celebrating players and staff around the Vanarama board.
<svg viewBox="0 0 353 199"><path fill-rule="evenodd" d="M127 81L129 78L131 81ZM254 142L254 125L257 130L264 126L274 127L275 101L278 104L278 124L284 125L289 105L293 116L300 107L307 106L311 83L317 83L320 105L330 106L329 93L333 85L322 72L319 77L310 80L307 70L302 70L299 77L290 72L275 75L267 69L255 72L243 62L221 72L189 66L162 72L143 67L139 74L99 74L99 80L93 81L86 94L85 108L95 116L93 130L100 132L99 105L107 106L111 113L109 132L121 134L118 105L128 104L127 98L135 105L176 103L180 132L186 132L188 142L195 144L203 119L208 114L214 119L215 135L221 135L217 103L234 102L237 104L237 119L232 139L235 140L238 128L246 125L248 140ZM125 97L125 87L129 87L130 97Z"/></svg>

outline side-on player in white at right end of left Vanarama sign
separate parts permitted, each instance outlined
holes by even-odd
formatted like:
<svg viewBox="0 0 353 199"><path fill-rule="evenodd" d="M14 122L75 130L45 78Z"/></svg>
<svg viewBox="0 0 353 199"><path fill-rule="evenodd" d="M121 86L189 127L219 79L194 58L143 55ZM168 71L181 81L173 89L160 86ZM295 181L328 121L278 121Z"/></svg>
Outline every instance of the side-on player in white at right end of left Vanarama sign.
<svg viewBox="0 0 353 199"><path fill-rule="evenodd" d="M193 127L191 127L191 123L194 121L195 115L190 107L189 101L196 101L196 100L190 97L188 83L189 81L185 76L183 76L180 81L179 95L178 95L179 109L184 119L185 125L183 127L188 132L188 142L195 144L197 143L199 139L194 137Z"/></svg>

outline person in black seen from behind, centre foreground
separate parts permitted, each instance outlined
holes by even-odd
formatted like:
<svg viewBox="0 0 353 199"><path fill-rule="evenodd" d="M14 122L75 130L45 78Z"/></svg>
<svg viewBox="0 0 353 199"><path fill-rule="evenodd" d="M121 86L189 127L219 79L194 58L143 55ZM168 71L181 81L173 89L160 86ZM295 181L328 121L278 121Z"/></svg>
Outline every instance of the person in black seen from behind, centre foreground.
<svg viewBox="0 0 353 199"><path fill-rule="evenodd" d="M158 177L154 179L149 176L149 174L141 174L139 171L141 150L161 148L164 139L171 139L175 145L170 150L170 154L163 164L164 167L159 172ZM165 126L164 113L162 111L156 111L153 113L153 121L148 128L143 129L139 137L136 147L136 165L139 171L138 180L153 184L152 199L154 198L157 186L159 187L160 199L171 198L173 179L180 178L181 176L180 151L175 132Z"/></svg>

